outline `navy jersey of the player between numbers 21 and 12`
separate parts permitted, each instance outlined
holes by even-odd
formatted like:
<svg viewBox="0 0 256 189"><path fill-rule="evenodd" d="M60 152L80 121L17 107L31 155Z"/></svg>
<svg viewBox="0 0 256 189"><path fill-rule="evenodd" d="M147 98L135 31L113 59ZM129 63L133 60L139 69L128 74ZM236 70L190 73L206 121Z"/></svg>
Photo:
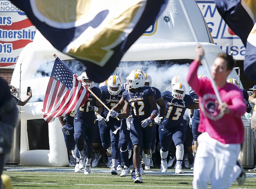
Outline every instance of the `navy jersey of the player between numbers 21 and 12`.
<svg viewBox="0 0 256 189"><path fill-rule="evenodd" d="M108 92L108 86L102 86L100 87L100 90L102 92L101 101L104 102L105 105L108 106L109 109L112 109L122 98L123 92L120 91L117 95L111 95ZM103 106L102 113L100 114L102 117L106 118L108 115L108 109ZM111 120L111 118L109 118ZM116 118L114 118L116 120Z"/></svg>

